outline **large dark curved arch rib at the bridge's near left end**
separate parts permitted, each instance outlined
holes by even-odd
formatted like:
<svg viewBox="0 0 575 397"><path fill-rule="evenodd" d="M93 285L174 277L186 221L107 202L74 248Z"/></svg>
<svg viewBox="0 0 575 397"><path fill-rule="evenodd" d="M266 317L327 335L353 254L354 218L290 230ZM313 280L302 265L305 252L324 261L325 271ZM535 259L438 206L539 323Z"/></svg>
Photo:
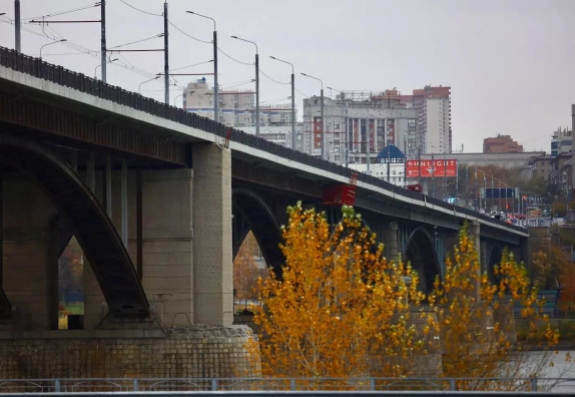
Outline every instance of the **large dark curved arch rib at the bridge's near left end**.
<svg viewBox="0 0 575 397"><path fill-rule="evenodd" d="M45 146L12 135L0 136L0 162L36 181L59 213L71 222L110 312L116 316L148 315L148 300L128 251L80 176Z"/></svg>

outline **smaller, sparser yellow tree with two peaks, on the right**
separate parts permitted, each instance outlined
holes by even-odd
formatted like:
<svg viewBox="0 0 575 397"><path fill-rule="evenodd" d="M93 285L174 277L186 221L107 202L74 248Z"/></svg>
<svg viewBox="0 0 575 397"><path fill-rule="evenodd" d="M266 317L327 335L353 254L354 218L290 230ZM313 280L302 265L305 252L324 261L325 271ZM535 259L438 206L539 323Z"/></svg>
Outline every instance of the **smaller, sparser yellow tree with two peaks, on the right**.
<svg viewBox="0 0 575 397"><path fill-rule="evenodd" d="M443 352L443 376L475 378L457 381L458 390L514 390L530 385L494 378L536 377L552 365L551 352L536 361L522 354L522 343L545 349L558 333L541 315L542 303L528 272L507 250L494 269L495 280L481 272L473 240L464 227L453 256L445 263L443 280L435 282L430 302L435 306ZM529 332L518 342L513 306L528 318Z"/></svg>

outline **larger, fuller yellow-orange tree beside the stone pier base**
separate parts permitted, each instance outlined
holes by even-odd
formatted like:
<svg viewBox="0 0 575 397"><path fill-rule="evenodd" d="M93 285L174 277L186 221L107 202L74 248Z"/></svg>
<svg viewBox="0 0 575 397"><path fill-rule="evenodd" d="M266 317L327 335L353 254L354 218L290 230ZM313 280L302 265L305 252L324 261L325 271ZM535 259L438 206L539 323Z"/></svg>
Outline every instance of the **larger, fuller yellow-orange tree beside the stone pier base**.
<svg viewBox="0 0 575 397"><path fill-rule="evenodd" d="M286 258L281 275L260 280L264 375L351 378L401 376L410 357L423 352L429 332L419 332L409 311L423 295L408 266L392 264L383 246L351 207L330 227L323 213L291 207L283 229ZM406 277L412 282L406 285ZM418 336L418 334L420 336Z"/></svg>

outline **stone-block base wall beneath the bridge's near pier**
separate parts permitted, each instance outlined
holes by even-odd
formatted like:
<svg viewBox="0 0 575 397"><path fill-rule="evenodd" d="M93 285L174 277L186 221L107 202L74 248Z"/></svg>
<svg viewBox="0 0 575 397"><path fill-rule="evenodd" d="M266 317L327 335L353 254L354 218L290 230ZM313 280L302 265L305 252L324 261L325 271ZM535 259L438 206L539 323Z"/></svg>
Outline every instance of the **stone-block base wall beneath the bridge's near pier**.
<svg viewBox="0 0 575 397"><path fill-rule="evenodd" d="M0 333L0 378L202 378L260 375L247 327ZM143 386L143 385L142 385ZM3 390L6 392L7 390Z"/></svg>

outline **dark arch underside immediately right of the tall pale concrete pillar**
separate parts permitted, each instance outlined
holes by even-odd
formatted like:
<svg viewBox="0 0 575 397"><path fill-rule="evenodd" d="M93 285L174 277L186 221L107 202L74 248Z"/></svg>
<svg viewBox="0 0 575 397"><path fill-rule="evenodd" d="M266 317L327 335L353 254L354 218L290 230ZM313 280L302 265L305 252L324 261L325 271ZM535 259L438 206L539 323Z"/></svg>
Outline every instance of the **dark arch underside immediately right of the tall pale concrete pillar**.
<svg viewBox="0 0 575 397"><path fill-rule="evenodd" d="M240 245L251 230L258 242L266 265L276 276L281 277L281 268L285 263L284 254L279 245L282 241L281 227L266 201L248 188L233 190L234 212L234 258Z"/></svg>

